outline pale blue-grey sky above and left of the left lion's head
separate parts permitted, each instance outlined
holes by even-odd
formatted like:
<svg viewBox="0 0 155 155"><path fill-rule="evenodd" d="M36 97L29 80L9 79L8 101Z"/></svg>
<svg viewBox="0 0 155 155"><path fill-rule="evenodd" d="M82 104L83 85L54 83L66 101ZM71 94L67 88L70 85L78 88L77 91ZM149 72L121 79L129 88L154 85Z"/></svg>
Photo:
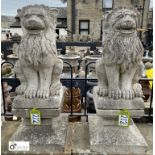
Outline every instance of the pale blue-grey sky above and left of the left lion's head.
<svg viewBox="0 0 155 155"><path fill-rule="evenodd" d="M61 0L1 0L1 15L16 16L17 9L29 4L44 4L50 7L65 7Z"/></svg>

